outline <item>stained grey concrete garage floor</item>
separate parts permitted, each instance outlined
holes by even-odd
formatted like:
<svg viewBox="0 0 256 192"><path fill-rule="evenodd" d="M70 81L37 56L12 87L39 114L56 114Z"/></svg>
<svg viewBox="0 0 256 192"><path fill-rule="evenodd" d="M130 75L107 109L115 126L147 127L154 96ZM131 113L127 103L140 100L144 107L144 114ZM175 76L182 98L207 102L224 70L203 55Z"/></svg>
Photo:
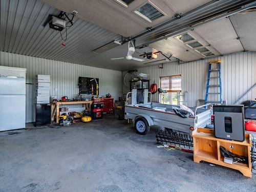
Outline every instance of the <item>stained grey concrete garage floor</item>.
<svg viewBox="0 0 256 192"><path fill-rule="evenodd" d="M30 125L33 127L32 125ZM0 133L0 191L255 191L256 177L157 148L115 116Z"/></svg>

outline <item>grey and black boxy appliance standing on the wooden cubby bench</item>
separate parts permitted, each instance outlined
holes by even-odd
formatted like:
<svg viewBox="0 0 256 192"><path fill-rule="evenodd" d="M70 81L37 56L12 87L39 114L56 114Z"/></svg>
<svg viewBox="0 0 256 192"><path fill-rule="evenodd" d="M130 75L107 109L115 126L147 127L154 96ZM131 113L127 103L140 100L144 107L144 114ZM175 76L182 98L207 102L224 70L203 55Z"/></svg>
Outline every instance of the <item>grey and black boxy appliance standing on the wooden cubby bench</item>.
<svg viewBox="0 0 256 192"><path fill-rule="evenodd" d="M244 105L214 105L215 137L244 141Z"/></svg>

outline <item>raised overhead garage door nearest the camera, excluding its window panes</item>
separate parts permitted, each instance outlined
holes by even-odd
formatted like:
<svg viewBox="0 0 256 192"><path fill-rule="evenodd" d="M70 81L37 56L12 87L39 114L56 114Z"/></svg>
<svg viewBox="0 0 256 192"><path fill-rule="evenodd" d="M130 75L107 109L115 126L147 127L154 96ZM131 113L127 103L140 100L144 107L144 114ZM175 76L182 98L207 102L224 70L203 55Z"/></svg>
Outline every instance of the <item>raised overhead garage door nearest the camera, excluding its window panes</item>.
<svg viewBox="0 0 256 192"><path fill-rule="evenodd" d="M71 13L78 11L77 17L124 37L137 35L144 29L159 25L171 19L176 13L185 13L211 0L136 0L129 6L122 6L115 0L42 0L46 4ZM222 0L223 1L223 0ZM150 2L164 13L164 16L150 22L134 11ZM104 19L102 19L104 18Z"/></svg>

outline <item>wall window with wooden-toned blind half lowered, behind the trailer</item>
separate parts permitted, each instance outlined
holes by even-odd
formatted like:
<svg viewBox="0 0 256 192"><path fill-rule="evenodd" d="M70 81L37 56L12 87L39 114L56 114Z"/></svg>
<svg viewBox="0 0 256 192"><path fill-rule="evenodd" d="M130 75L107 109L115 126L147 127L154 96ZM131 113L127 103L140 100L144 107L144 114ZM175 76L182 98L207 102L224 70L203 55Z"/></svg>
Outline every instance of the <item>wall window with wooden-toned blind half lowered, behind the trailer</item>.
<svg viewBox="0 0 256 192"><path fill-rule="evenodd" d="M166 90L166 94L160 94L160 102L165 104L178 104L177 92L181 92L181 75L169 75L160 77L160 88Z"/></svg>

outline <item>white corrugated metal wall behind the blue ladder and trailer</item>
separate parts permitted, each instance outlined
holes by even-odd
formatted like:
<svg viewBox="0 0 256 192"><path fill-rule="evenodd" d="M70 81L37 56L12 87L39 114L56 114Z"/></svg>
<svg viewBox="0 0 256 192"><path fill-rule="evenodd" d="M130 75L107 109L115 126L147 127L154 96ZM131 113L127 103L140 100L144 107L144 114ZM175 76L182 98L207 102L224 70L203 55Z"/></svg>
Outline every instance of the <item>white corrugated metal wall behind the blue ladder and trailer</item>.
<svg viewBox="0 0 256 192"><path fill-rule="evenodd" d="M228 54L217 58L188 62L181 65L170 62L163 64L163 69L158 66L137 69L138 72L150 75L150 83L155 82L159 86L159 76L182 75L182 92L188 91L188 105L195 106L198 99L205 98L208 62L210 60L222 60L222 95L228 104L233 104L256 82L256 52L241 52ZM123 76L126 71L122 72ZM123 86L123 93L129 92ZM250 91L242 100L256 98L256 88ZM153 101L158 101L158 94L153 96ZM241 101L242 101L241 100ZM240 101L240 102L241 102Z"/></svg>

